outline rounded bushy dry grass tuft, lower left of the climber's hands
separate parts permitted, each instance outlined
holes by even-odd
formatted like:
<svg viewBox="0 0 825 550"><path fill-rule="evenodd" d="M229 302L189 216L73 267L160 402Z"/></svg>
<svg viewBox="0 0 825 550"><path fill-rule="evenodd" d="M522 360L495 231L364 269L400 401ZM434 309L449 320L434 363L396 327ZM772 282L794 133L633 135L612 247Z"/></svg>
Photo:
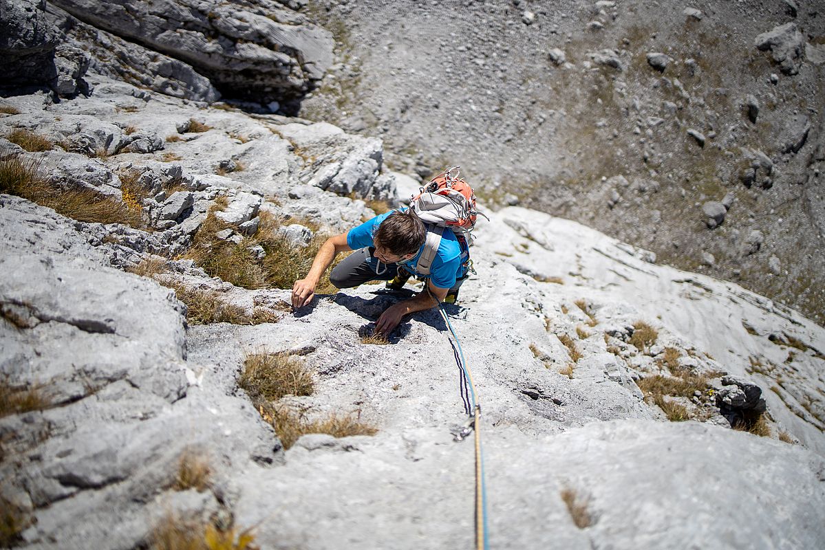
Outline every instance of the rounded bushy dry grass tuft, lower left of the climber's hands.
<svg viewBox="0 0 825 550"><path fill-rule="evenodd" d="M288 353L247 355L238 386L252 402L275 401L286 395L307 396L315 390L312 371Z"/></svg>

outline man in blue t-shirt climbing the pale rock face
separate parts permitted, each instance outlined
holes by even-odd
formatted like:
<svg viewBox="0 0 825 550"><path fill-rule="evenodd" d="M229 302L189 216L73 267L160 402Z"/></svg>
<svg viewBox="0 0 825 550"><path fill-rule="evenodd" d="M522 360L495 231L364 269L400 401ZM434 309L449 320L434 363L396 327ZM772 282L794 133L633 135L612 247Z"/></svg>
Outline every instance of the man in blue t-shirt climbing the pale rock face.
<svg viewBox="0 0 825 550"><path fill-rule="evenodd" d="M431 233L429 239L428 233ZM301 308L309 303L318 280L335 256L350 250L356 252L347 256L329 275L329 280L339 289L356 287L370 280L386 280L388 289L398 290L411 275L425 277L426 286L420 293L394 303L375 322L375 333L382 336L388 336L404 315L434 308L439 302L455 303L469 270L464 237L456 236L450 230L442 233L439 228L426 225L412 209L392 210L347 233L328 238L318 250L306 277L295 281L293 307ZM426 256L432 257L427 259ZM422 261L427 260L431 261L429 269L422 268ZM422 271L428 275L423 275Z"/></svg>

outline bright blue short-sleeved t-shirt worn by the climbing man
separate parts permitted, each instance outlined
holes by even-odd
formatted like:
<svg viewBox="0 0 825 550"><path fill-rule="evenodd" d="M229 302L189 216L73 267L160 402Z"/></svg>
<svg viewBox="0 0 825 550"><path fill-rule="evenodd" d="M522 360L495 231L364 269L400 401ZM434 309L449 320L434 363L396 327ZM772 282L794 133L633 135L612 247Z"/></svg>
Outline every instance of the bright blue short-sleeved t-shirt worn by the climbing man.
<svg viewBox="0 0 825 550"><path fill-rule="evenodd" d="M369 221L361 223L361 225L356 228L351 228L349 233L347 233L347 245L349 245L352 250L358 250L364 247L375 247L372 236L375 234L380 223L392 213L393 211L390 210L385 214L380 214ZM404 268L413 273L413 275L421 275L417 273L415 266L423 251L424 247L422 246L413 259L409 261L399 261L398 265L404 266ZM455 234L449 229L445 229L441 235L441 242L438 245L436 257L432 261L432 266L430 266L430 280L433 286L439 289L450 289L455 285L455 280L462 275L460 270L461 247L455 238Z"/></svg>

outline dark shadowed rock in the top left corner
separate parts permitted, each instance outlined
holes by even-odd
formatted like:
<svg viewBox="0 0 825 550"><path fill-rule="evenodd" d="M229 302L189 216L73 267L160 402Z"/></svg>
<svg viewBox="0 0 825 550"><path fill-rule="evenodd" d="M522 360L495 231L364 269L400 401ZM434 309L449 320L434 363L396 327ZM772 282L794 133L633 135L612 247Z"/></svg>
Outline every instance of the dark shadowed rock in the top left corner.
<svg viewBox="0 0 825 550"><path fill-rule="evenodd" d="M56 76L57 29L46 20L45 0L0 3L0 75L6 84L48 84Z"/></svg>

